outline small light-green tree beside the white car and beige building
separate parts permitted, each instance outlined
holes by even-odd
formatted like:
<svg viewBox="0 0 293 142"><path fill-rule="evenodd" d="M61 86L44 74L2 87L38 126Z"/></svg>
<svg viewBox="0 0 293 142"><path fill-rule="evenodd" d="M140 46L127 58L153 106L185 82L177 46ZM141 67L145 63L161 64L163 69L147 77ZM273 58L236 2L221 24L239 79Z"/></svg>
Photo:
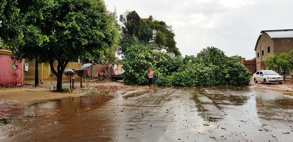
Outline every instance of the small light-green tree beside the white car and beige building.
<svg viewBox="0 0 293 142"><path fill-rule="evenodd" d="M283 80L285 81L285 75L288 75L293 70L293 50L289 54L281 53L280 56L270 56L265 60L265 66L269 70L278 71L280 68L284 72Z"/></svg>

